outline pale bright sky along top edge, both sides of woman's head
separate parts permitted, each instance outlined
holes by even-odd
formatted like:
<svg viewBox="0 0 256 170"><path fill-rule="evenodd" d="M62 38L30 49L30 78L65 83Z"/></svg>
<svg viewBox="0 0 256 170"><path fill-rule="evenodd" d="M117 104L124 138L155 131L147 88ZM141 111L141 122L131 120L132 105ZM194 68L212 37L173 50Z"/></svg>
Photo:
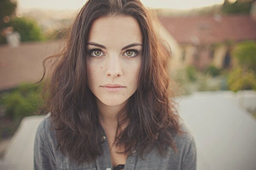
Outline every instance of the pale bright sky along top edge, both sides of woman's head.
<svg viewBox="0 0 256 170"><path fill-rule="evenodd" d="M221 4L224 0L141 0L151 8L189 9ZM86 0L17 0L19 9L44 8L57 10L79 9Z"/></svg>

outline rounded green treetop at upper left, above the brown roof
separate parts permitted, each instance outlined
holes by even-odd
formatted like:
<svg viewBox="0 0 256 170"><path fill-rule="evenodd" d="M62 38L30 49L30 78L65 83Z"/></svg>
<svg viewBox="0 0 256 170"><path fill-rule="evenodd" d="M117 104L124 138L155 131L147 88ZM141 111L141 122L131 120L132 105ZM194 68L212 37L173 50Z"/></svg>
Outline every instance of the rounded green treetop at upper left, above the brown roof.
<svg viewBox="0 0 256 170"><path fill-rule="evenodd" d="M38 24L29 18L16 17L12 19L9 26L14 28L14 31L20 33L21 41L41 41L43 40L43 35Z"/></svg>

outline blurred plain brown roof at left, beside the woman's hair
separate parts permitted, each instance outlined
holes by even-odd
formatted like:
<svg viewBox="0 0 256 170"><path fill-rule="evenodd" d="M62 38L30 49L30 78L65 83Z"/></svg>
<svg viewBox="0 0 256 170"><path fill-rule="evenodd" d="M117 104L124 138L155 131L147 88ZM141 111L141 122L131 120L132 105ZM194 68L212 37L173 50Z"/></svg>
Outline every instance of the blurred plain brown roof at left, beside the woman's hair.
<svg viewBox="0 0 256 170"><path fill-rule="evenodd" d="M39 81L43 75L43 60L55 54L61 43L22 42L15 48L0 45L0 91L15 88L21 82Z"/></svg>

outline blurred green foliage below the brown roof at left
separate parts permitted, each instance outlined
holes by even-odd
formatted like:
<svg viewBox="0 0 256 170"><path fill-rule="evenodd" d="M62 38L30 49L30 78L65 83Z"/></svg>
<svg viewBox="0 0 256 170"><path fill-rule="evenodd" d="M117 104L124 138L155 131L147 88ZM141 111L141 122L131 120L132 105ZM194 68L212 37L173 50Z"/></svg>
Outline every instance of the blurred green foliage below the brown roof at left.
<svg viewBox="0 0 256 170"><path fill-rule="evenodd" d="M0 103L6 108L6 116L12 120L21 119L24 116L34 115L42 108L44 101L41 97L43 83L22 83L10 93L3 94Z"/></svg>

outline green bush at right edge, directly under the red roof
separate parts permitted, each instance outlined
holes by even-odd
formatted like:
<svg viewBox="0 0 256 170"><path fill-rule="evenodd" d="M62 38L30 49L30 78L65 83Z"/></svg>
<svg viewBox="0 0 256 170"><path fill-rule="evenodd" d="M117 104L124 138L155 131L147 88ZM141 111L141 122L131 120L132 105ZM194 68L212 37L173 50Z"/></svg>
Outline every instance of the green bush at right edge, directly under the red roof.
<svg viewBox="0 0 256 170"><path fill-rule="evenodd" d="M256 71L256 42L245 41L239 43L233 50L232 56L237 58L239 65L243 68Z"/></svg>

